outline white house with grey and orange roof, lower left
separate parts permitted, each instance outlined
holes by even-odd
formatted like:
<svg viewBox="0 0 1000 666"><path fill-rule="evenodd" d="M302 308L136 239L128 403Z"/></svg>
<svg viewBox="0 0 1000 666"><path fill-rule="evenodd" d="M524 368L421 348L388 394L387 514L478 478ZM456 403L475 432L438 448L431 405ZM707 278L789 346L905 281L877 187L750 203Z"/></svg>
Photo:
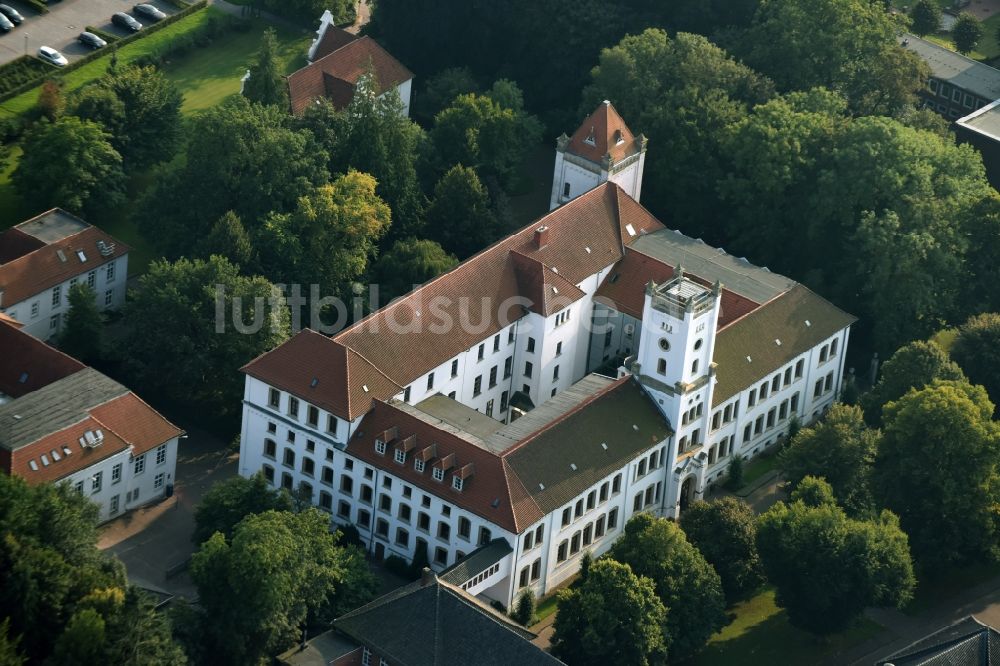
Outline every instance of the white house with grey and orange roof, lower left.
<svg viewBox="0 0 1000 666"><path fill-rule="evenodd" d="M0 471L74 486L102 522L165 495L180 429L6 317L0 350Z"/></svg>

